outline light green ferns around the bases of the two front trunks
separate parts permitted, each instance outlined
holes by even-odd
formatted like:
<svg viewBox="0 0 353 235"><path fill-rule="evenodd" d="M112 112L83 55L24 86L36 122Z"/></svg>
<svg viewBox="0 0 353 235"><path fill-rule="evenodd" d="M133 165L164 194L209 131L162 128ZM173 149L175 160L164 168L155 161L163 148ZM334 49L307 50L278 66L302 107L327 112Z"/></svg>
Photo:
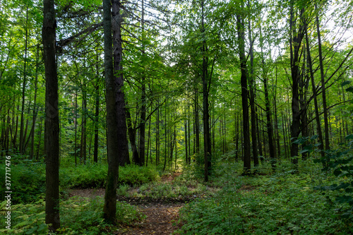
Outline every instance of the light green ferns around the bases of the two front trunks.
<svg viewBox="0 0 353 235"><path fill-rule="evenodd" d="M72 197L60 203L61 228L56 234L113 234L119 227L109 225L102 218L104 198ZM6 203L0 205L0 223L5 224ZM116 219L120 226L131 226L143 219L132 205L117 202ZM44 200L11 207L11 229L2 227L1 234L48 234L45 224Z"/></svg>

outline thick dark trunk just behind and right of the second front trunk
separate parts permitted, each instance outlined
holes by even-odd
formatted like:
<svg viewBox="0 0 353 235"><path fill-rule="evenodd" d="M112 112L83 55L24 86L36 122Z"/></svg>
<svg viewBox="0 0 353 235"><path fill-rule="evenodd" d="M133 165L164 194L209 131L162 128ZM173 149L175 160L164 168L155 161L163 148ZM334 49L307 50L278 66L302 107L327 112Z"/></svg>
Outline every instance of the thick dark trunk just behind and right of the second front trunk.
<svg viewBox="0 0 353 235"><path fill-rule="evenodd" d="M118 140L119 140L119 162L121 166L130 164L130 157L128 156L128 138L126 127L126 109L125 109L125 95L124 95L124 76L123 66L121 65L123 48L121 40L121 22L123 21L120 12L120 0L112 0L112 30L113 30L113 46L114 46L114 80L116 83L116 118L118 122Z"/></svg>

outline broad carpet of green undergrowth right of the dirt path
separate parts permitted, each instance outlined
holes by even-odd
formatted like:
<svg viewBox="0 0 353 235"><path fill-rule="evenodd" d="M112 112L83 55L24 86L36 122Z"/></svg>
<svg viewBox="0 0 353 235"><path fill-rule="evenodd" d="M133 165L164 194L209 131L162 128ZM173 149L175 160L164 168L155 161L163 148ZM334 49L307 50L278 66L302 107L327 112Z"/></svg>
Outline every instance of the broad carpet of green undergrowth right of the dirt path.
<svg viewBox="0 0 353 235"><path fill-rule="evenodd" d="M177 234L352 234L342 217L349 205L335 203L340 191L316 190L340 184L312 159L277 162L276 173L265 162L253 176L241 176L241 164L219 163L212 178L222 186L215 196L193 201L180 210Z"/></svg>

